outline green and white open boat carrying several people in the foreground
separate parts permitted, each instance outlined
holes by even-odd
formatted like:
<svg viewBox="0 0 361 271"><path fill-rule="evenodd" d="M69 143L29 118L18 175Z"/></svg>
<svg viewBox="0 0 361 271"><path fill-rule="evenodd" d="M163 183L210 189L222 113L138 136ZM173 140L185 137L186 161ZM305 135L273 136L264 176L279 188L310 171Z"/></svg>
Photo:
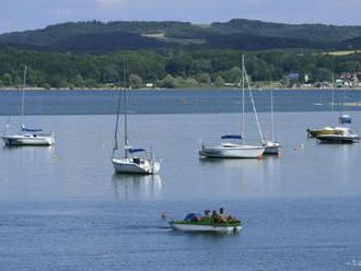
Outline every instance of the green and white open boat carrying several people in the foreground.
<svg viewBox="0 0 361 271"><path fill-rule="evenodd" d="M206 210L205 215L189 213L184 220L172 220L168 222L173 229L182 232L210 232L210 233L237 233L242 229L241 221L233 216Z"/></svg>

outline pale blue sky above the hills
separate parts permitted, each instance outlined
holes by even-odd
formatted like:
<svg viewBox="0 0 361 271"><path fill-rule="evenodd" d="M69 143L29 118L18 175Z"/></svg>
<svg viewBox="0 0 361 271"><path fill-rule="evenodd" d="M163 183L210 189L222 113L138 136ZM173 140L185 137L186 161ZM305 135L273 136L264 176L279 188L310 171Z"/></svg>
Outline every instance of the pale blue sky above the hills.
<svg viewBox="0 0 361 271"><path fill-rule="evenodd" d="M361 0L0 0L0 33L92 20L361 25L360 13Z"/></svg>

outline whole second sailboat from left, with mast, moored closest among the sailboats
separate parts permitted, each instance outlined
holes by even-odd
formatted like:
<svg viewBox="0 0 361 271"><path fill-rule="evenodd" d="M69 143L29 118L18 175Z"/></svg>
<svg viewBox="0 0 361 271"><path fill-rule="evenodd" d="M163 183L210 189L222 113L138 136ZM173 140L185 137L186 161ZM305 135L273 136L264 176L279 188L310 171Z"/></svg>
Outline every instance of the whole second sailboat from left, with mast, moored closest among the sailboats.
<svg viewBox="0 0 361 271"><path fill-rule="evenodd" d="M124 69L125 72L125 69ZM153 153L150 152L147 155L147 151L140 148L133 148L129 144L128 138L128 116L127 116L127 93L126 93L126 80L123 87L124 97L124 156L116 156L116 151L118 148L118 128L119 128L119 114L120 114L120 102L121 102L121 91L119 92L118 108L117 108L117 119L114 133L114 148L112 154L112 163L114 169L118 174L143 174L151 175L159 173L161 168L161 162L156 161ZM145 154L140 157L137 154ZM148 156L148 157L147 157Z"/></svg>

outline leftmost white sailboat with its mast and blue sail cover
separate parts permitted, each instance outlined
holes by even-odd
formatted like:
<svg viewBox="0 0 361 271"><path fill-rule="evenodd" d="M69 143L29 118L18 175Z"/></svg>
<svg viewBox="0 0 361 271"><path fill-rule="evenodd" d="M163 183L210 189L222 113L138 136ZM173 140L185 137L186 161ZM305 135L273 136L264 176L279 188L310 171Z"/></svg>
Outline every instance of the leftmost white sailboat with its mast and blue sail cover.
<svg viewBox="0 0 361 271"><path fill-rule="evenodd" d="M7 134L9 122L2 134L2 140L9 146L23 146L23 145L53 145L55 143L54 133L42 133L43 129L30 129L24 125L24 104L25 104L25 85L26 85L26 71L24 69L23 90L22 90L22 105L21 105L21 133Z"/></svg>

